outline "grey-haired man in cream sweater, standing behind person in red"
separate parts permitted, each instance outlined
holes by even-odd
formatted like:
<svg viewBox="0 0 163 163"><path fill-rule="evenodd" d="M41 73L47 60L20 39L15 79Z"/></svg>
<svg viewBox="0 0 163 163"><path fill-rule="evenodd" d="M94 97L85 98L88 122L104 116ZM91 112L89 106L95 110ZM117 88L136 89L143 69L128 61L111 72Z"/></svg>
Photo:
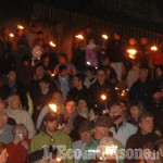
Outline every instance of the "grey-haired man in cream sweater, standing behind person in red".
<svg viewBox="0 0 163 163"><path fill-rule="evenodd" d="M9 117L15 120L16 124L23 124L28 130L28 138L32 139L35 134L35 126L30 114L21 108L20 96L12 95L9 98L9 109L7 110Z"/></svg>

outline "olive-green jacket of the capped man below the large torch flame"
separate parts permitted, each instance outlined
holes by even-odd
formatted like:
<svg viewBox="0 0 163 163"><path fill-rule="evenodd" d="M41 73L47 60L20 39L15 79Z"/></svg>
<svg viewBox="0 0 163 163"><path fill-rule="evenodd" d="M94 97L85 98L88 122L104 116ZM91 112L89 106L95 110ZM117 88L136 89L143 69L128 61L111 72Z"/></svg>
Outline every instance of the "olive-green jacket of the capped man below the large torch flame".
<svg viewBox="0 0 163 163"><path fill-rule="evenodd" d="M61 155L68 155L66 152L68 151L67 149L72 149L72 141L70 136L61 130L54 131L52 137L50 137L47 133L40 130L40 133L32 139L29 153L41 150L43 146L65 146L64 149L59 148L59 151ZM70 154L72 155L72 152L70 152ZM63 160L63 162L73 163L74 161L73 159L66 159Z"/></svg>

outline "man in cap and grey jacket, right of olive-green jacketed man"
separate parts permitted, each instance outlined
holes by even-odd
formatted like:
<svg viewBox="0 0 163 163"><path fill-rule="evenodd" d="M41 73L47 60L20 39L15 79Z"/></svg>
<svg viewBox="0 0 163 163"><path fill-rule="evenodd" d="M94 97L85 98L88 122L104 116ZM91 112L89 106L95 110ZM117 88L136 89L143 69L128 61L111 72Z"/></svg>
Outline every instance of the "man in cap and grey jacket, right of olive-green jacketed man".
<svg viewBox="0 0 163 163"><path fill-rule="evenodd" d="M88 154L89 150L95 150L98 147L98 141L96 141L92 135L92 126L89 121L84 121L78 128L80 140L73 142L73 149L80 149L83 151L82 158L76 159L75 163L84 162L87 163L90 159L84 159L85 154Z"/></svg>

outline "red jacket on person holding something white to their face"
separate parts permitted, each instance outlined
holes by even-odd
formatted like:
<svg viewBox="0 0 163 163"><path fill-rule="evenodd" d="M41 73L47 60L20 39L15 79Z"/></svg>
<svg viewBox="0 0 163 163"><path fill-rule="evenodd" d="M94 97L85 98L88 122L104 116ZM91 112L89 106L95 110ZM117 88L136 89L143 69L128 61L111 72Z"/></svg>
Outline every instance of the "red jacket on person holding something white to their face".
<svg viewBox="0 0 163 163"><path fill-rule="evenodd" d="M25 139L25 141L29 145L29 139ZM13 142L10 142L8 145L8 153L9 153L9 163L26 163L26 156L28 154L28 150L22 145L22 142L18 142L17 145L14 145Z"/></svg>

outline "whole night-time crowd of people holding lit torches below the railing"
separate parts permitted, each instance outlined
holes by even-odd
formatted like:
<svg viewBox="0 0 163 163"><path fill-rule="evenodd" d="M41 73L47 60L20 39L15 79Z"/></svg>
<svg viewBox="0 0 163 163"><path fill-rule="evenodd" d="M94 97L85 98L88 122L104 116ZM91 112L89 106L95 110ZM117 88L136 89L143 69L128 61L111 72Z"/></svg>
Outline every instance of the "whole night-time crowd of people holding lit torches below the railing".
<svg viewBox="0 0 163 163"><path fill-rule="evenodd" d="M36 25L14 36L1 29L0 163L108 162L92 153L113 145L126 156L112 162L163 162L163 45L153 51L146 37L125 41L116 32L102 39L91 27L79 34L68 61ZM159 158L127 156L147 148Z"/></svg>

